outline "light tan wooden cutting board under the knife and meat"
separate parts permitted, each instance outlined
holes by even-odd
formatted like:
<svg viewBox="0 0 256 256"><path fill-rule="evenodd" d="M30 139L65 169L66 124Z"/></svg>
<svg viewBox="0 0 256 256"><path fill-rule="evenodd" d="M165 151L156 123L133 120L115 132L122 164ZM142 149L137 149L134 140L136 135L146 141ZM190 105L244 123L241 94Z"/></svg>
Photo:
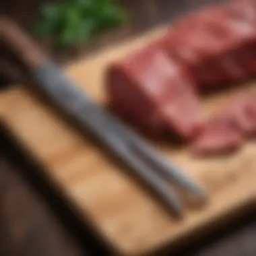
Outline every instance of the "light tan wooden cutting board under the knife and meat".
<svg viewBox="0 0 256 256"><path fill-rule="evenodd" d="M102 73L106 65L164 30L158 29L81 59L69 65L66 73L104 104ZM256 90L256 86L251 83L239 87L236 92L238 90ZM223 92L202 100L205 114L211 113L236 92ZM176 245L183 238L216 228L217 223L225 222L227 216L228 219L235 216L245 206L255 206L256 141L245 143L232 156L212 160L193 158L186 148L178 150L168 143L156 143L162 154L183 167L210 196L206 205L187 207L183 220L176 220L121 166L105 156L100 148L66 123L26 86L17 85L0 94L0 118L121 255L139 255L164 245Z"/></svg>

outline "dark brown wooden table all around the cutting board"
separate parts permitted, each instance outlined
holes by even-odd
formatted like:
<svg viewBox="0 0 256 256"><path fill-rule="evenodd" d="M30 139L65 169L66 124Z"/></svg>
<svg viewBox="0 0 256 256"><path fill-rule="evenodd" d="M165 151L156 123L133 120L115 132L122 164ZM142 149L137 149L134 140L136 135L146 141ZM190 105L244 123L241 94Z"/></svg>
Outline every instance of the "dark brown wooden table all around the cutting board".
<svg viewBox="0 0 256 256"><path fill-rule="evenodd" d="M32 22L36 15L36 6L43 0L1 1L0 10L7 13L24 27ZM141 0L123 1L131 10L130 30L119 31L111 36L98 38L97 43L82 49L86 54L96 51L104 44L121 40L125 36L138 34L152 26L174 19L189 9L203 3L220 0ZM141 15L143 13L143 15ZM170 17L171 16L171 17ZM59 62L76 57L70 51L58 53L45 45L46 51ZM0 81L13 82L20 79L19 72L12 67L2 72ZM17 71L17 70L16 70ZM0 72L1 73L1 72ZM9 74L9 75L6 75ZM0 83L1 84L1 83ZM0 92L1 93L1 92ZM91 234L90 228L81 228L65 203L53 197L51 188L41 183L34 173L39 168L15 149L13 142L7 139L5 131L0 132L0 255L27 256L73 256L107 255L98 238ZM255 213L245 216L244 220L226 230L218 230L207 241L201 241L194 247L185 248L183 255L189 256L255 256L256 220Z"/></svg>

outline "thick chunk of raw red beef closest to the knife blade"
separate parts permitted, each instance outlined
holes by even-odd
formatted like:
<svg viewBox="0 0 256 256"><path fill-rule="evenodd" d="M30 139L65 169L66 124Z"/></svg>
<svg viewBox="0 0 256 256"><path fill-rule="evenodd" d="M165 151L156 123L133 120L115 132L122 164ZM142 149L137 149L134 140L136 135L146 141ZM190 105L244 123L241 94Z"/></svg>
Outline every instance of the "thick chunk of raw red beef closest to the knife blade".
<svg viewBox="0 0 256 256"><path fill-rule="evenodd" d="M147 46L113 63L106 92L119 113L156 133L191 137L201 125L193 79L158 46Z"/></svg>

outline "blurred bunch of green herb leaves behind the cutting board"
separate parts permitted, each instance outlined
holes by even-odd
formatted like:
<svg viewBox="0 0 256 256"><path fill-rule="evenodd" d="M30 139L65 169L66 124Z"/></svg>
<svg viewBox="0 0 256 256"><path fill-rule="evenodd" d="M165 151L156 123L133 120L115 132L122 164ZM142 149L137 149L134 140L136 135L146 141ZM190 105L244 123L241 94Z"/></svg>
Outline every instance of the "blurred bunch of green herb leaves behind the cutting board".
<svg viewBox="0 0 256 256"><path fill-rule="evenodd" d="M88 42L96 33L120 26L126 13L111 0L66 0L40 7L32 34L38 38L53 36L61 47Z"/></svg>

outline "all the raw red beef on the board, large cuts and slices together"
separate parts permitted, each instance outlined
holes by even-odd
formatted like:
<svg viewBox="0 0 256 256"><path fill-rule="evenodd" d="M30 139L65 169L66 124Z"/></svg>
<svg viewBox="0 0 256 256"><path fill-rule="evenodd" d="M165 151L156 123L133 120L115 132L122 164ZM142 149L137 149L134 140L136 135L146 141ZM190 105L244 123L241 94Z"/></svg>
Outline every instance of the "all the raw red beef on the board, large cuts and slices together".
<svg viewBox="0 0 256 256"><path fill-rule="evenodd" d="M234 0L189 14L110 65L106 92L121 115L148 131L192 139L199 154L224 152L255 134L256 99L240 96L203 125L197 94L255 75L256 1Z"/></svg>

